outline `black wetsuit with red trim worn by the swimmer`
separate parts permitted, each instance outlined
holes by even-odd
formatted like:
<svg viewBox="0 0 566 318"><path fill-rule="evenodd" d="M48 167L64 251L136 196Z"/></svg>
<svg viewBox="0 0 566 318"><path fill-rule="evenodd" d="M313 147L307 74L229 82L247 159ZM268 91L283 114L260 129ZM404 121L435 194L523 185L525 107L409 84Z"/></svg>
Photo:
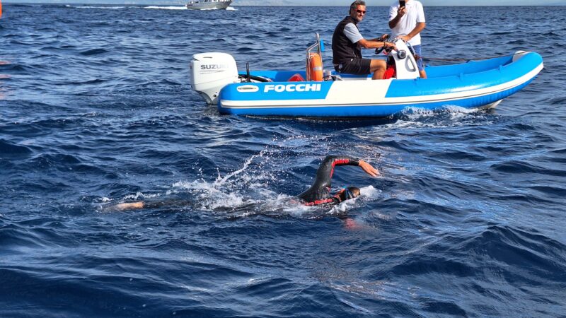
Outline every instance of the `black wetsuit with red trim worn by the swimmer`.
<svg viewBox="0 0 566 318"><path fill-rule="evenodd" d="M340 196L330 194L330 182L336 165L359 165L359 160L347 155L327 155L318 167L314 184L296 197L307 206L340 203Z"/></svg>

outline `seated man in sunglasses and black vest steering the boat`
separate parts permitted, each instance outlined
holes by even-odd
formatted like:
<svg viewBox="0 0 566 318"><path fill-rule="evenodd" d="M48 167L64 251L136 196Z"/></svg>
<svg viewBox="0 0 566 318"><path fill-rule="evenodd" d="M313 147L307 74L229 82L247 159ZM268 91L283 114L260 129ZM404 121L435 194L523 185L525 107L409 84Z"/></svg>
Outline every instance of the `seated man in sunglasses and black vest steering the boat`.
<svg viewBox="0 0 566 318"><path fill-rule="evenodd" d="M383 59L362 58L362 47L377 49L386 47L396 49L391 42L386 42L383 35L376 39L366 40L359 33L357 24L362 22L366 14L365 1L354 1L350 5L350 16L340 21L332 37L334 69L340 73L367 75L374 73L372 79L383 78L386 71L386 61Z"/></svg>

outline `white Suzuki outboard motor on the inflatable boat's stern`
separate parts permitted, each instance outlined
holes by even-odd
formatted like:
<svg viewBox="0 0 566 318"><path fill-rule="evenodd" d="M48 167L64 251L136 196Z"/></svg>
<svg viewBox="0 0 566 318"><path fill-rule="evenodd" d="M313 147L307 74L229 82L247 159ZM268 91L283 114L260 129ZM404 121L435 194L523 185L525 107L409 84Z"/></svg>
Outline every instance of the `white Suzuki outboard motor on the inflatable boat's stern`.
<svg viewBox="0 0 566 318"><path fill-rule="evenodd" d="M190 85L209 104L218 102L220 90L230 83L239 82L236 60L226 53L210 52L192 56Z"/></svg>

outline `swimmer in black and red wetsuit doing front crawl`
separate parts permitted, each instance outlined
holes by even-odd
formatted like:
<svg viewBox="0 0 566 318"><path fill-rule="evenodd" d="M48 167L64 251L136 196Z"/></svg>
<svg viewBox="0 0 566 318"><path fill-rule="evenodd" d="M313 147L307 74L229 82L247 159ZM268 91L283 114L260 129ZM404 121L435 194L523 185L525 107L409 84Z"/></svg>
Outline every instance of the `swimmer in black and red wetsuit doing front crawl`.
<svg viewBox="0 0 566 318"><path fill-rule="evenodd" d="M323 162L320 163L320 167L316 172L316 179L313 185L308 188L305 192L296 196L296 199L301 201L301 204L306 206L318 206L321 204L340 204L342 201L348 199L354 199L359 196L359 189L357 187L345 187L339 192L334 194L330 193L330 186L332 181L332 176L334 174L334 167L337 165L357 165L361 167L368 175L371 177L376 177L379 175L379 171L372 167L369 163L364 160L352 158L347 155L327 155ZM171 205L178 204L178 201L171 201ZM124 211L124 210L134 210L138 208L153 208L168 206L168 201L161 202L129 202L123 204L116 204L110 207L112 210Z"/></svg>

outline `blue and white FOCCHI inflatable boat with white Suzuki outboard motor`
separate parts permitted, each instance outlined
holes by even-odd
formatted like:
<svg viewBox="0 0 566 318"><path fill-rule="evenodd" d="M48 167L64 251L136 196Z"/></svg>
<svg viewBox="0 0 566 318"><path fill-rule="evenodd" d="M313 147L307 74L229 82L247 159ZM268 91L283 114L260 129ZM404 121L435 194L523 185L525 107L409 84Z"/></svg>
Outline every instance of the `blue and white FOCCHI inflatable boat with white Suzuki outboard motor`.
<svg viewBox="0 0 566 318"><path fill-rule="evenodd" d="M284 117L388 117L407 107L495 107L528 85L543 69L535 52L463 64L427 66L420 78L410 45L393 40L386 79L323 70L323 42L306 50L306 67L294 71L238 72L226 53L195 54L191 86L221 114Z"/></svg>

